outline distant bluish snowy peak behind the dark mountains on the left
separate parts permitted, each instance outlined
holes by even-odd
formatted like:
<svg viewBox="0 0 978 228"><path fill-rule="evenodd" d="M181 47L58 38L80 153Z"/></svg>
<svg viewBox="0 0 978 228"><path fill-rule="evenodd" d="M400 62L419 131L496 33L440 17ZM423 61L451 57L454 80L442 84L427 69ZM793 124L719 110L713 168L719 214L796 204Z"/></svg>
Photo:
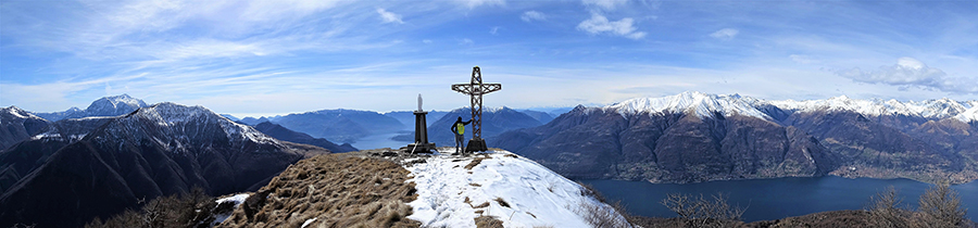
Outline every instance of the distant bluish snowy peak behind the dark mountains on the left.
<svg viewBox="0 0 978 228"><path fill-rule="evenodd" d="M57 122L64 118L82 118L89 116L117 116L131 113L139 107L148 106L146 102L129 94L104 97L91 102L85 110L72 107L64 112L36 113L45 119Z"/></svg>

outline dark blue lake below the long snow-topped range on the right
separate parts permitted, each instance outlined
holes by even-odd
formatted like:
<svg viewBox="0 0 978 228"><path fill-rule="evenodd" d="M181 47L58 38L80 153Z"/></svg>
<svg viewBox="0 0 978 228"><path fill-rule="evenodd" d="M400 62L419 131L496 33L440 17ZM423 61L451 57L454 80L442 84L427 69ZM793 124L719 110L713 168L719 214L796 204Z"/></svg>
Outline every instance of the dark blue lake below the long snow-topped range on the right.
<svg viewBox="0 0 978 228"><path fill-rule="evenodd" d="M816 212L862 210L870 195L893 186L908 208L917 207L917 200L931 185L910 179L847 179L842 177L789 177L756 180L725 180L702 183L651 183L625 180L580 180L594 187L609 202L620 201L634 215L676 217L659 202L668 193L728 195L728 203L747 207L744 221L773 220ZM978 206L978 182L952 186L965 208ZM968 210L971 220L978 218L978 207Z"/></svg>

